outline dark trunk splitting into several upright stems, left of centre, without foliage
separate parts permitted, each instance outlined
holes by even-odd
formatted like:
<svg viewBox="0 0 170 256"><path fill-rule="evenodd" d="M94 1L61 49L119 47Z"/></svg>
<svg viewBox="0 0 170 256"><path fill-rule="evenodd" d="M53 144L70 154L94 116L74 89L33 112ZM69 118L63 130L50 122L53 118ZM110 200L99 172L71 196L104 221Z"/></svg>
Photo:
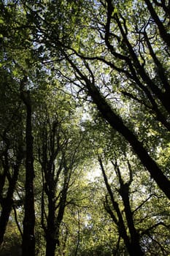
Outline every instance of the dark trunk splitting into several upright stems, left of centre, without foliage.
<svg viewBox="0 0 170 256"><path fill-rule="evenodd" d="M49 121L50 123L50 121ZM61 221L63 219L63 213L66 205L66 193L68 189L69 179L64 176L63 189L58 191L58 180L63 170L64 157L58 166L58 170L55 167L55 159L58 153L61 152L60 135L57 131L56 122L51 125L50 131L47 132L47 127L44 127L42 148L39 148L39 162L42 165L42 228L45 231L46 238L46 256L54 256L56 246L60 246L59 231ZM48 137L49 136L49 137ZM48 145L50 140L50 146ZM63 146L63 145L62 145ZM67 171L66 167L65 170ZM45 201L44 193L47 195L47 211L45 214Z"/></svg>

